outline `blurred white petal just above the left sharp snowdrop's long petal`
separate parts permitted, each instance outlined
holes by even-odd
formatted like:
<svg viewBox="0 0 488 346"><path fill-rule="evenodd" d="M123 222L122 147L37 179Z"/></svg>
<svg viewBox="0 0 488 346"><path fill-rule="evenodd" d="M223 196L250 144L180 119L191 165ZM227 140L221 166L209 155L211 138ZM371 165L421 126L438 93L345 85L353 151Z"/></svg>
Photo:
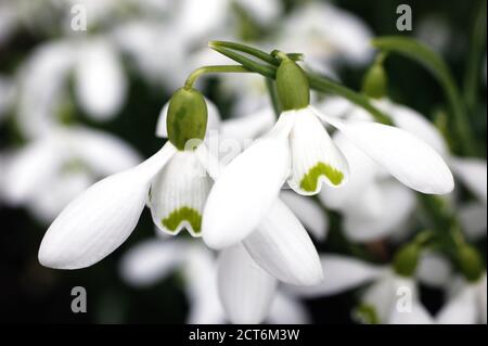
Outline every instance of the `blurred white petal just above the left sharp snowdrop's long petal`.
<svg viewBox="0 0 488 346"><path fill-rule="evenodd" d="M141 162L141 156L125 141L102 131L74 127L65 133L75 155L97 175L106 176L128 169Z"/></svg>

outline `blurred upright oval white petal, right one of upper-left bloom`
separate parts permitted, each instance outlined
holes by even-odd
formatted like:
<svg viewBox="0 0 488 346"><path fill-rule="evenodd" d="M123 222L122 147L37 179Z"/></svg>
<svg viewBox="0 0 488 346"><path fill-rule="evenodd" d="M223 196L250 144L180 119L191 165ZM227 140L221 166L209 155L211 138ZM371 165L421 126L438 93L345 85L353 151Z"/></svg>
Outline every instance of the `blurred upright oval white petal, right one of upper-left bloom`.
<svg viewBox="0 0 488 346"><path fill-rule="evenodd" d="M75 67L75 92L89 116L112 118L123 106L127 80L110 42L86 42Z"/></svg>

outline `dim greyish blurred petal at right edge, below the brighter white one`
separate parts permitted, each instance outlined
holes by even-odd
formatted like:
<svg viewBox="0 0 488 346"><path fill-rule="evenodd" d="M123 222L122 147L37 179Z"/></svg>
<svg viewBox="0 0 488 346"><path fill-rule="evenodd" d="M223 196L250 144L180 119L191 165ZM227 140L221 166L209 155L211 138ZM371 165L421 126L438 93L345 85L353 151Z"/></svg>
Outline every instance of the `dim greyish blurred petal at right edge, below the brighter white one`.
<svg viewBox="0 0 488 346"><path fill-rule="evenodd" d="M485 204L472 202L460 206L459 218L464 233L471 240L486 236L487 212Z"/></svg>

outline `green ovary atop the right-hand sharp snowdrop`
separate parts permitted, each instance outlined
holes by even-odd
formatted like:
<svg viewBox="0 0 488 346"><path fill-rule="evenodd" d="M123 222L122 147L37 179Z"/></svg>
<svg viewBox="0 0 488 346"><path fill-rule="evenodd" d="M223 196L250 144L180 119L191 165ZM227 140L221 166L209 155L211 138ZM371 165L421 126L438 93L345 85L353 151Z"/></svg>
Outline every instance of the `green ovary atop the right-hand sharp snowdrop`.
<svg viewBox="0 0 488 346"><path fill-rule="evenodd" d="M291 59L283 60L278 67L277 92L283 111L305 108L310 103L307 76Z"/></svg>

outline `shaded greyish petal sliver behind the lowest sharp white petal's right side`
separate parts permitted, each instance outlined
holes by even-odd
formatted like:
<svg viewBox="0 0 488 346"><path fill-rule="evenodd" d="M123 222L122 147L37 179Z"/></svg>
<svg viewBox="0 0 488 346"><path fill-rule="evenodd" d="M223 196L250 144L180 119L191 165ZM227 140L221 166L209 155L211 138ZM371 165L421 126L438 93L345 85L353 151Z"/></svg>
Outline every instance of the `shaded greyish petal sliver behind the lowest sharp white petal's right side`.
<svg viewBox="0 0 488 346"><path fill-rule="evenodd" d="M318 241L325 240L329 231L329 219L325 210L317 202L309 197L300 196L293 191L282 191L280 198Z"/></svg>

